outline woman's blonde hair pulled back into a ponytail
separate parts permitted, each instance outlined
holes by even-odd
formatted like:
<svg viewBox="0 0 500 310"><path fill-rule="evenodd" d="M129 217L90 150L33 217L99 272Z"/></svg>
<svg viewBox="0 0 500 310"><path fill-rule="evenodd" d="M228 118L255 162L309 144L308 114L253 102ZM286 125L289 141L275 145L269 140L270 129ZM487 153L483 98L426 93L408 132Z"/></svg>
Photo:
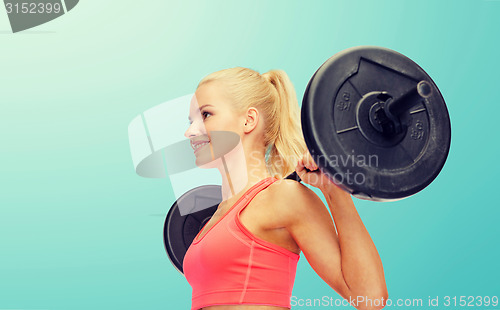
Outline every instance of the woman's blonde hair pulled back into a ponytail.
<svg viewBox="0 0 500 310"><path fill-rule="evenodd" d="M206 76L198 87L211 81L224 83L234 99L236 111L243 113L255 107L263 116L265 161L269 173L278 178L292 173L307 147L295 89L285 71L260 74L248 68L230 68Z"/></svg>

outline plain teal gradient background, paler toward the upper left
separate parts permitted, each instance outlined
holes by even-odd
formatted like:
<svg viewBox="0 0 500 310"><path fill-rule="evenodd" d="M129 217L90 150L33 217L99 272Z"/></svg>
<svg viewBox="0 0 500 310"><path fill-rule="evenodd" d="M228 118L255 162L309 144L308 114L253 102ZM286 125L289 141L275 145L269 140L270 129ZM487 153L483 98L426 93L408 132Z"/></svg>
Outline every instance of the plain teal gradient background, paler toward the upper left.
<svg viewBox="0 0 500 310"><path fill-rule="evenodd" d="M452 121L429 187L355 199L389 297L500 295L499 16L500 1L481 0L85 0L12 34L0 8L0 309L188 309L162 241L174 195L135 174L129 122L234 66L283 69L301 98L326 59L358 45L417 62ZM293 295L338 298L303 254Z"/></svg>

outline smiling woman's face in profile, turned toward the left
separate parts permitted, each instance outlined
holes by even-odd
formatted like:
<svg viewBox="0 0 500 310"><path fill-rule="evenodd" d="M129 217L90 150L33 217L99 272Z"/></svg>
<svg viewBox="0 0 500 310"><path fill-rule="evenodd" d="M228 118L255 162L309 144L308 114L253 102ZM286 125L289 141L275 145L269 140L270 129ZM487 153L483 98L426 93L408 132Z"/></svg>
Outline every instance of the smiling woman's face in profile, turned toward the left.
<svg viewBox="0 0 500 310"><path fill-rule="evenodd" d="M189 108L189 122L184 136L191 140L200 166L228 153L238 144L245 118L234 111L223 85L212 81L196 90Z"/></svg>

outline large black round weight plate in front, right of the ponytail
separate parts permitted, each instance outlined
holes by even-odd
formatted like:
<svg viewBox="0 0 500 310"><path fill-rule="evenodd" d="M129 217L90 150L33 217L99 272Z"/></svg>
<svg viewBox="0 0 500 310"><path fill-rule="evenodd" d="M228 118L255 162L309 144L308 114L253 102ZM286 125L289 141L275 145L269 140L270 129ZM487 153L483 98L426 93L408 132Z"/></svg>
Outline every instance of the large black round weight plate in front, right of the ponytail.
<svg viewBox="0 0 500 310"><path fill-rule="evenodd" d="M387 136L366 126L371 92L402 96L419 81L432 95L405 112L407 127ZM352 195L374 201L397 200L429 185L450 148L448 110L436 84L415 62L381 47L361 46L328 59L307 85L302 129L318 167Z"/></svg>

